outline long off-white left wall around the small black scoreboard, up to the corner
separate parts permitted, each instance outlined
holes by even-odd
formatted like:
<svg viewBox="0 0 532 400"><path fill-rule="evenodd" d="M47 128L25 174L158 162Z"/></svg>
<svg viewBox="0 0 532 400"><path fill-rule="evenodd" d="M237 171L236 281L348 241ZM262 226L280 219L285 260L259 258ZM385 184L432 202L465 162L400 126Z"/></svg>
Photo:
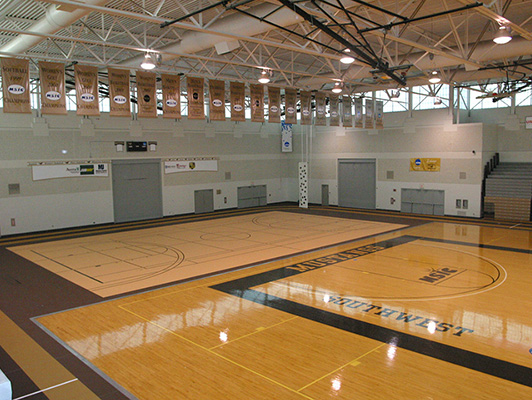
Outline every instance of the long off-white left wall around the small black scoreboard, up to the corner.
<svg viewBox="0 0 532 400"><path fill-rule="evenodd" d="M176 124L159 117L140 120L132 127L129 118L102 114L90 119L92 131L84 131L81 118L70 113L46 116L48 132L43 132L34 129L32 115L0 115L1 235L114 221L112 171L109 177L33 181L29 165L33 162L218 157L217 172L163 173L165 216L194 212L194 190L198 189L213 189L216 210L237 206L239 186L266 184L270 203L297 200L297 193L290 197L288 186L296 172L286 168L292 156L280 151L279 124L207 124L186 119ZM156 141L157 151L116 152L114 142L128 140ZM9 184L19 184L20 194L10 195Z"/></svg>

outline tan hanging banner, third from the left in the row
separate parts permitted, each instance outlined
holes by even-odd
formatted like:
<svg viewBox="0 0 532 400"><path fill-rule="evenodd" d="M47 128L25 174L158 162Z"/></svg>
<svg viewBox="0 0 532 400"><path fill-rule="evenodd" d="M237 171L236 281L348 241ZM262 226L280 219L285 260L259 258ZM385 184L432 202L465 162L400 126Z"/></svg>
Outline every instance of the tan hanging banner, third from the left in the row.
<svg viewBox="0 0 532 400"><path fill-rule="evenodd" d="M100 115L100 97L98 95L98 67L74 65L76 83L76 115Z"/></svg>

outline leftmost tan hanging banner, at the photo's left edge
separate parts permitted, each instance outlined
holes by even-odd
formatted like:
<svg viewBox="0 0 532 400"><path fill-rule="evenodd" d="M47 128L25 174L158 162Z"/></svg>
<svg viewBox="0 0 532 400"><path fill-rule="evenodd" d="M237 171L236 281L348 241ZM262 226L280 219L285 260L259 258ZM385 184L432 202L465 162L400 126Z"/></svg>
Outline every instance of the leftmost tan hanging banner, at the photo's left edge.
<svg viewBox="0 0 532 400"><path fill-rule="evenodd" d="M29 60L2 58L0 62L4 112L31 114Z"/></svg>

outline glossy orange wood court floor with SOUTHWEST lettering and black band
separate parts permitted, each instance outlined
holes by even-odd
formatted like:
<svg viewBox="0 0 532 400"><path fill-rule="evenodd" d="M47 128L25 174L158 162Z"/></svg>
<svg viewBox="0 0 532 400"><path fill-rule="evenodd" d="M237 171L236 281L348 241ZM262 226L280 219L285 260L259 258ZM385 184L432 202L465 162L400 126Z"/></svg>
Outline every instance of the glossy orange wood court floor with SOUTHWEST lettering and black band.
<svg viewBox="0 0 532 400"><path fill-rule="evenodd" d="M432 222L36 321L131 398L530 399L531 249Z"/></svg>

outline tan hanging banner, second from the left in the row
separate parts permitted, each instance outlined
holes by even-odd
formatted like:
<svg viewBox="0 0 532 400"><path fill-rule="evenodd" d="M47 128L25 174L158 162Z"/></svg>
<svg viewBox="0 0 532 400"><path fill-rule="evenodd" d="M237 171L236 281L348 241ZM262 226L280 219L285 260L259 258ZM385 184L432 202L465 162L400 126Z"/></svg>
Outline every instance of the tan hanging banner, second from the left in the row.
<svg viewBox="0 0 532 400"><path fill-rule="evenodd" d="M65 115L65 65L47 61L39 62L41 80L41 112L51 115Z"/></svg>

